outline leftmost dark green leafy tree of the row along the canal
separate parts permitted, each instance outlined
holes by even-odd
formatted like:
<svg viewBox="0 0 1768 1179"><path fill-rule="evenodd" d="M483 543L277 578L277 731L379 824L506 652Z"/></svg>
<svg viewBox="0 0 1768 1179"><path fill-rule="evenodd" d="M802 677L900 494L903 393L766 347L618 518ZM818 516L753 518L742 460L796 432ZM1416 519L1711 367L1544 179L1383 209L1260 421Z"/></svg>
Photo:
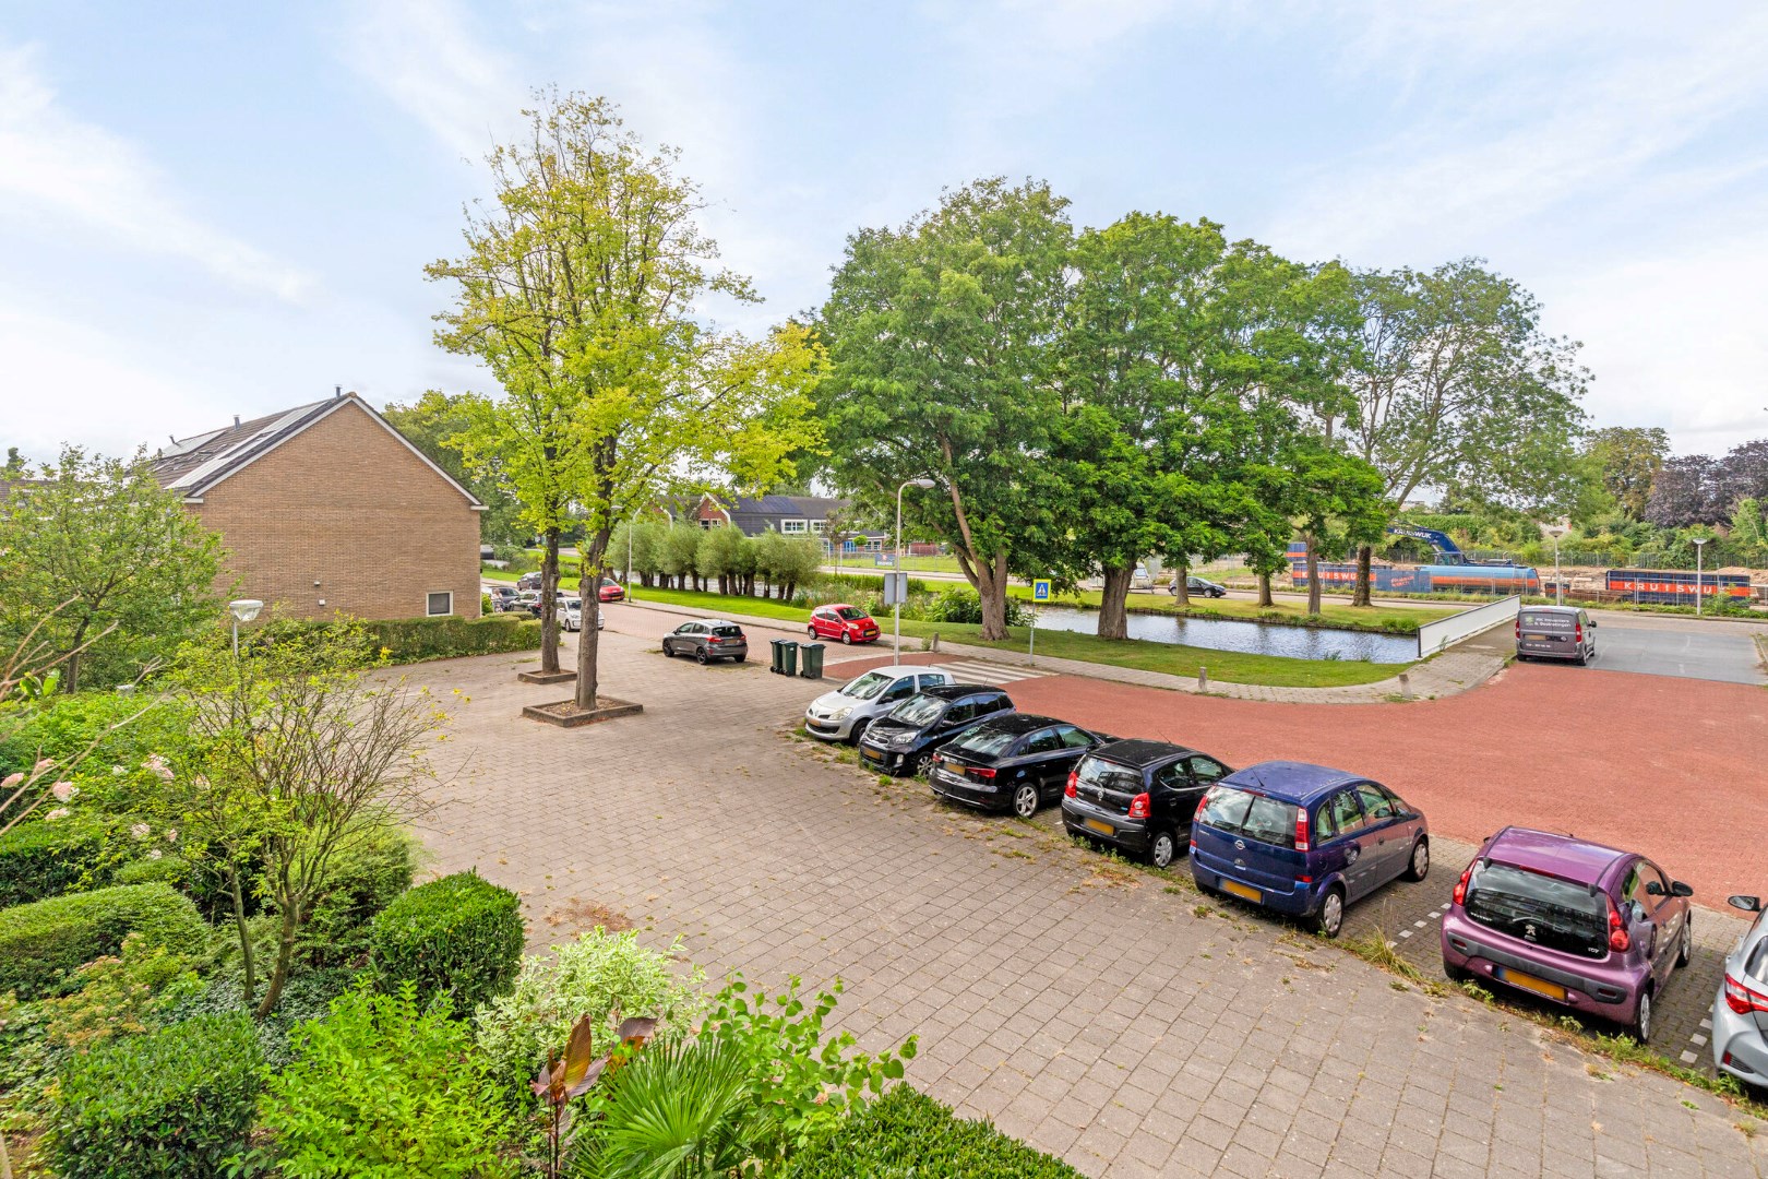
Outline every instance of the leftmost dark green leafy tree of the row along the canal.
<svg viewBox="0 0 1768 1179"><path fill-rule="evenodd" d="M903 481L934 479L903 516L951 546L988 640L1006 638L1008 576L1066 523L1048 470L1066 205L1036 180L948 191L902 228L850 235L822 311L829 475L879 514Z"/></svg>

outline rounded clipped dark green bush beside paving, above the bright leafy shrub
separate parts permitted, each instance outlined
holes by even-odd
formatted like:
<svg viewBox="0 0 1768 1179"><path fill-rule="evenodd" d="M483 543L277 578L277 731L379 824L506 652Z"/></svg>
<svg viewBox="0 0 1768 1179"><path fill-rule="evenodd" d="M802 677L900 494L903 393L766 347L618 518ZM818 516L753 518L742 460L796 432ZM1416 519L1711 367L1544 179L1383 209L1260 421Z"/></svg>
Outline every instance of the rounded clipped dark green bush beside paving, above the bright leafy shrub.
<svg viewBox="0 0 1768 1179"><path fill-rule="evenodd" d="M368 933L382 990L408 981L419 1002L451 992L461 1015L509 990L525 939L522 898L476 871L412 889L387 905Z"/></svg>

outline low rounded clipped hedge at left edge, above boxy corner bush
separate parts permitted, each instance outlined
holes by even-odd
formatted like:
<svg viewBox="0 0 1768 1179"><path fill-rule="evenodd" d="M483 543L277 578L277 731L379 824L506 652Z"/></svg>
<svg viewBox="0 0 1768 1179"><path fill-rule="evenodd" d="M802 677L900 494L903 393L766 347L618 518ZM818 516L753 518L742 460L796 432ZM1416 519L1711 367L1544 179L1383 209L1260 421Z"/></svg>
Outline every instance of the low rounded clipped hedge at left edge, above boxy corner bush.
<svg viewBox="0 0 1768 1179"><path fill-rule="evenodd" d="M209 947L196 905L164 884L51 896L0 910L0 995L16 990L32 1000L65 993L69 974L115 955L131 933L180 955Z"/></svg>

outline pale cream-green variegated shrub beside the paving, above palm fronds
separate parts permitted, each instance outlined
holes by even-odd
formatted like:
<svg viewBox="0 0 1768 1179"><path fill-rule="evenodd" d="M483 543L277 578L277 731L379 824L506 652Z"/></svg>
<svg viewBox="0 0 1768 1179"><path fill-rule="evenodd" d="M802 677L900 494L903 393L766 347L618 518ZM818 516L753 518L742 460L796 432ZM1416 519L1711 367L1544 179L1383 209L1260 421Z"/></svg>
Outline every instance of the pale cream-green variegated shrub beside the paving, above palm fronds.
<svg viewBox="0 0 1768 1179"><path fill-rule="evenodd" d="M670 946L672 955L677 949L679 942ZM523 958L514 990L479 1008L479 1046L500 1082L525 1085L548 1052L564 1052L585 1015L594 1016L598 1043L613 1038L615 1013L656 1016L659 1036L690 1029L704 1008L704 977L695 969L681 981L668 956L640 946L636 933L596 928L553 946L550 958Z"/></svg>

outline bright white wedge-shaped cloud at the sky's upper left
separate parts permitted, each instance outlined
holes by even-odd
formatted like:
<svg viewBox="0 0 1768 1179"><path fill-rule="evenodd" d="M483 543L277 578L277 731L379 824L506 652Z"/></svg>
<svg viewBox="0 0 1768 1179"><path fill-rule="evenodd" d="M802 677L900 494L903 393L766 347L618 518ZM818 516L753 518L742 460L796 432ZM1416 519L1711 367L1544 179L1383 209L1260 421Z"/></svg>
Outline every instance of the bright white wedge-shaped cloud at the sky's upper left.
<svg viewBox="0 0 1768 1179"><path fill-rule="evenodd" d="M145 253L196 262L226 283L299 300L311 279L180 207L129 141L62 110L30 46L0 46L0 209L94 226Z"/></svg>

